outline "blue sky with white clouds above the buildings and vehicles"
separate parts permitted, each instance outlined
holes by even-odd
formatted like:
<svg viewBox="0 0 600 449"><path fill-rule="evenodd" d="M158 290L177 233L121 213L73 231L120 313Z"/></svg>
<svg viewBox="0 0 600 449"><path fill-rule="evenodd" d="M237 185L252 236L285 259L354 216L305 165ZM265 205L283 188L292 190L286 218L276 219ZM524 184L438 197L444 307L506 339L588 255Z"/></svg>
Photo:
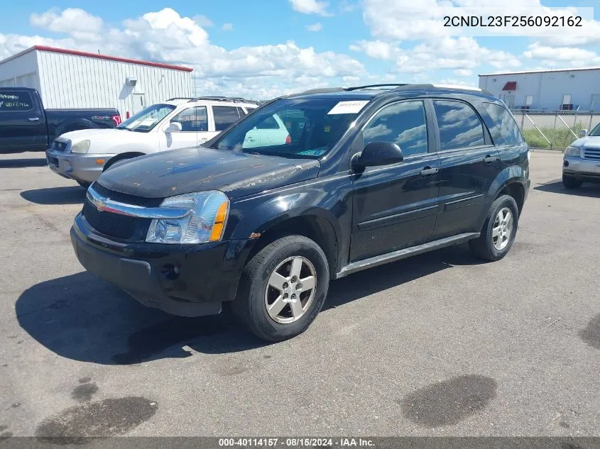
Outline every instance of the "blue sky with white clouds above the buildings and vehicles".
<svg viewBox="0 0 600 449"><path fill-rule="evenodd" d="M460 36L429 14L440 6L491 8L497 0L129 0L6 2L0 57L33 44L194 67L199 94L266 97L307 87L375 82L477 84L477 74L600 66L600 8L582 34ZM584 0L504 0L590 7ZM481 10L487 13L490 10ZM541 11L541 10L540 10ZM313 31L310 31L312 28ZM534 27L535 28L535 27Z"/></svg>

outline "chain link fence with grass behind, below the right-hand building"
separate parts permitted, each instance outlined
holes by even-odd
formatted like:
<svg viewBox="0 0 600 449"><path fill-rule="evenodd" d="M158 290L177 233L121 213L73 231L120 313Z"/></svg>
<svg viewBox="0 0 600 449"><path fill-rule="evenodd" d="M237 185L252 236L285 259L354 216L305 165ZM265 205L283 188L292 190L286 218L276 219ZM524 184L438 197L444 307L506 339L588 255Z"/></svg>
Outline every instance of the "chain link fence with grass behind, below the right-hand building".
<svg viewBox="0 0 600 449"><path fill-rule="evenodd" d="M582 129L591 131L600 123L598 111L513 109L512 113L532 148L564 150L579 138Z"/></svg>

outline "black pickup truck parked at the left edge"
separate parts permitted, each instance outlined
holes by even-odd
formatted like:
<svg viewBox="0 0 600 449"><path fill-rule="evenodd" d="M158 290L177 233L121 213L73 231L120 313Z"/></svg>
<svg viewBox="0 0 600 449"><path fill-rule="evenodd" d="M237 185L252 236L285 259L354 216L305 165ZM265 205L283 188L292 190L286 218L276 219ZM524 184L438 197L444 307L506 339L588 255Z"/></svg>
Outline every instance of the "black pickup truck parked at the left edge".
<svg viewBox="0 0 600 449"><path fill-rule="evenodd" d="M119 123L116 109L44 109L36 89L0 87L0 153L43 151L62 133Z"/></svg>

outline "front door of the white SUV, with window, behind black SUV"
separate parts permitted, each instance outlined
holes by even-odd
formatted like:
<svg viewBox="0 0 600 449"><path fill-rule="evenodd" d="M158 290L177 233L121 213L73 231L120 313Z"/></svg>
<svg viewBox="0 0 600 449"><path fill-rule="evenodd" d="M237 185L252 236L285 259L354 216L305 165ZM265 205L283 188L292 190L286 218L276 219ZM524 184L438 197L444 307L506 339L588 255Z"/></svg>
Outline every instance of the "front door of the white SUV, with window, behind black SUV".
<svg viewBox="0 0 600 449"><path fill-rule="evenodd" d="M181 131L165 133L170 123L181 123ZM208 132L208 119L206 106L195 106L184 109L170 121L163 124L160 132L160 150L176 150L177 148L194 147L204 139Z"/></svg>

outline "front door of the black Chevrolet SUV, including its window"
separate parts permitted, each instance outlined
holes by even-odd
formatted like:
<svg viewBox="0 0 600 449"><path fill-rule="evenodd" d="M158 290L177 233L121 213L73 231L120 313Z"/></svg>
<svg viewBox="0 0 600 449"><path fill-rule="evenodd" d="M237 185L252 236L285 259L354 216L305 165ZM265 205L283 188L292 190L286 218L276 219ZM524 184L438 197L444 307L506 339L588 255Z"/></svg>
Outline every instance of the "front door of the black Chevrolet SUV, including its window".
<svg viewBox="0 0 600 449"><path fill-rule="evenodd" d="M352 145L357 152L370 142L397 143L404 160L355 174L350 262L429 240L440 182L440 160L429 152L435 148L430 115L422 100L389 104Z"/></svg>

